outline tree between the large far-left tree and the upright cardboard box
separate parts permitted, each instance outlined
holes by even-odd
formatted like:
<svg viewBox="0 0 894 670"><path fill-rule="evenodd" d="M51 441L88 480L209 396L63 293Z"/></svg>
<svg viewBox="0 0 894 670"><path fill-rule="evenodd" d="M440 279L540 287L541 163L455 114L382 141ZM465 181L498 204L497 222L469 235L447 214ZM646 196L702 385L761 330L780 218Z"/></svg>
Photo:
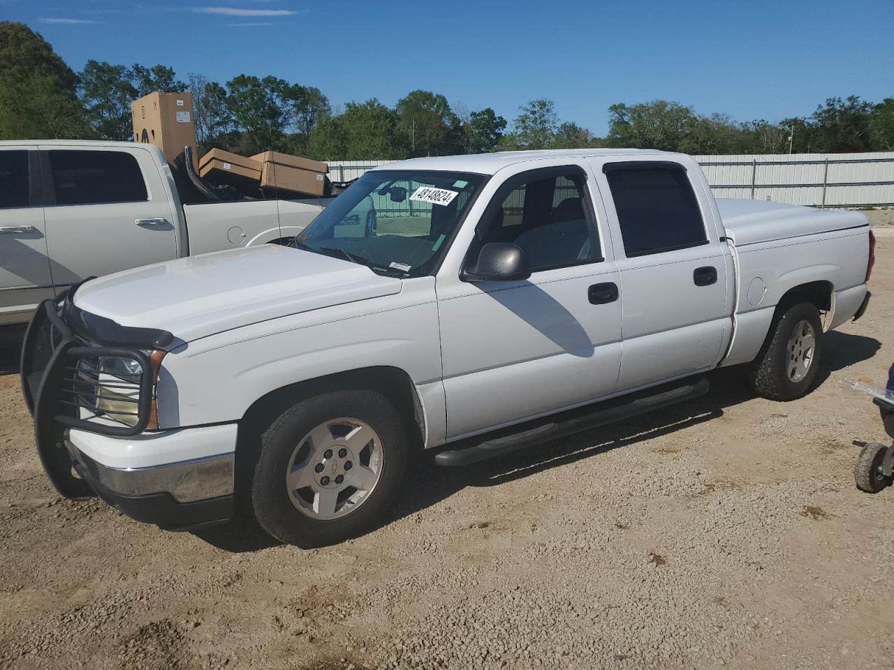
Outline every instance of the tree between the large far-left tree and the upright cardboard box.
<svg viewBox="0 0 894 670"><path fill-rule="evenodd" d="M87 119L100 138L131 138L131 102L139 96L126 67L91 59L80 73L79 88Z"/></svg>

